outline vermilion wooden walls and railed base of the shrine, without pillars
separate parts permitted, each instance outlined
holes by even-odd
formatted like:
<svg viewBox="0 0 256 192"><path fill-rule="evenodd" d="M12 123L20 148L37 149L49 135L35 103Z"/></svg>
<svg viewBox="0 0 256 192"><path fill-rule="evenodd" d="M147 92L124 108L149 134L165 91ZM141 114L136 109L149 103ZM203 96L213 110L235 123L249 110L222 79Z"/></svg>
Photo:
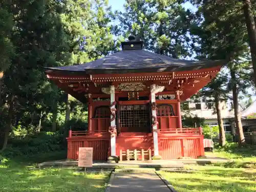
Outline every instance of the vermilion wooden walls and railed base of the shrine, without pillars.
<svg viewBox="0 0 256 192"><path fill-rule="evenodd" d="M148 101L119 101L118 104L139 104ZM178 159L180 157L197 158L204 155L203 135L194 132L181 132L182 128L178 128L179 103L177 100L156 100L159 105L170 104L173 107L173 115L162 116L161 110L157 120L159 122L158 144L159 155L163 159ZM93 147L94 160L106 160L110 156L110 136L107 133L110 117L100 117L97 109L105 108L105 112L109 113L110 101L94 101L91 105L92 121L89 120L89 129L94 135L81 136L80 138L68 138L68 159L78 158L79 147ZM90 109L90 107L89 107ZM104 111L104 110L103 110ZM90 113L90 112L89 112ZM108 115L107 115L108 116ZM90 125L91 123L91 125ZM98 133L100 132L100 133ZM75 134L75 132L74 132ZM154 154L152 133L142 132L121 132L116 137L116 155L119 156L120 150L148 150L151 149Z"/></svg>

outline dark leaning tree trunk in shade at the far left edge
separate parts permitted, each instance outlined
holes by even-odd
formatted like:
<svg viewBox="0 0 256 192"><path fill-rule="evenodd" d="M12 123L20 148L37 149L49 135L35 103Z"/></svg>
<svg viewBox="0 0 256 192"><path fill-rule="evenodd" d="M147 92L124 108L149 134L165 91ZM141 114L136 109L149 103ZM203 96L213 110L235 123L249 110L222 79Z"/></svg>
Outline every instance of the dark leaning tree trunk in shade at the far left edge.
<svg viewBox="0 0 256 192"><path fill-rule="evenodd" d="M4 151L7 146L8 142L8 136L9 132L11 131L11 126L12 126L12 115L13 115L13 102L14 102L14 96L11 97L9 101L9 109L8 109L8 116L6 119L6 125L3 129L3 132L0 135L0 151Z"/></svg>

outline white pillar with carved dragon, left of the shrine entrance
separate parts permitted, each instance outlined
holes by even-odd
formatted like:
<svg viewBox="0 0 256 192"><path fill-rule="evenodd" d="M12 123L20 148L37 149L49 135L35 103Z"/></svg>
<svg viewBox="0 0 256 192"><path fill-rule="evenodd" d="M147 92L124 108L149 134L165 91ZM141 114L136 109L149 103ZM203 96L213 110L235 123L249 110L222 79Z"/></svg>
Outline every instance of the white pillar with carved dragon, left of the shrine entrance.
<svg viewBox="0 0 256 192"><path fill-rule="evenodd" d="M115 109L115 86L110 86L110 103L111 107L110 110L112 111ZM114 116L111 115L111 119ZM111 140L110 140L110 145L111 145L111 156L116 156L116 120L113 120L110 122L111 130L114 132L111 134Z"/></svg>

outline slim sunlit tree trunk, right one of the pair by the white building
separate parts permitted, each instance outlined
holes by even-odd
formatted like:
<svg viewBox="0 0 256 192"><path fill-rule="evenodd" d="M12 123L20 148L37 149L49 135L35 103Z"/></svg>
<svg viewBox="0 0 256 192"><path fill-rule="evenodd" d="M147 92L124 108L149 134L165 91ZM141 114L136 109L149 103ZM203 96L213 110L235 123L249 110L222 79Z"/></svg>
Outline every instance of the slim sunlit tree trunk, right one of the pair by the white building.
<svg viewBox="0 0 256 192"><path fill-rule="evenodd" d="M241 116L239 112L239 104L238 104L238 90L237 90L237 83L236 83L236 74L234 70L230 69L231 75L231 82L232 82L232 95L233 95L233 108L234 108L234 121L237 127L237 133L239 136L239 145L245 144L243 126L241 122Z"/></svg>

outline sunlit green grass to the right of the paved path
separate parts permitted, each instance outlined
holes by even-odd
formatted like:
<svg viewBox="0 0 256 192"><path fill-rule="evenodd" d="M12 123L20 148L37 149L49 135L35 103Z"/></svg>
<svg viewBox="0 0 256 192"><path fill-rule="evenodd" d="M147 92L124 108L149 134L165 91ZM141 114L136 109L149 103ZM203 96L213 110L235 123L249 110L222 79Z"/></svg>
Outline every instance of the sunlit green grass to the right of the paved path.
<svg viewBox="0 0 256 192"><path fill-rule="evenodd" d="M256 191L256 170L218 166L189 166L193 173L159 172L179 192Z"/></svg>

